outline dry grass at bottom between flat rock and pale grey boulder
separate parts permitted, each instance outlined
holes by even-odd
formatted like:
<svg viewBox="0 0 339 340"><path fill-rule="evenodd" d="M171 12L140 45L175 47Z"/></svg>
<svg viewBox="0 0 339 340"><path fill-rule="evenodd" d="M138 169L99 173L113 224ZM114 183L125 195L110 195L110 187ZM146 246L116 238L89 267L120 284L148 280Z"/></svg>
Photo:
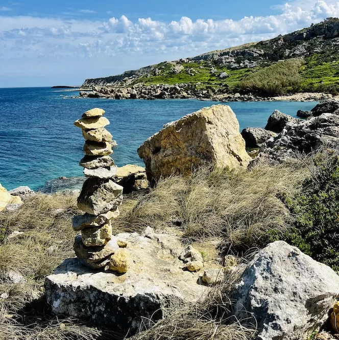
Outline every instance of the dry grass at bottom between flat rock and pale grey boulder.
<svg viewBox="0 0 339 340"><path fill-rule="evenodd" d="M249 258L248 258L249 259ZM224 282L215 286L196 304L187 304L159 321L152 328L135 335L132 340L250 340L255 330L240 325L231 315L228 298L239 280L248 259L241 260L237 270L228 271ZM147 321L145 322L146 326Z"/></svg>

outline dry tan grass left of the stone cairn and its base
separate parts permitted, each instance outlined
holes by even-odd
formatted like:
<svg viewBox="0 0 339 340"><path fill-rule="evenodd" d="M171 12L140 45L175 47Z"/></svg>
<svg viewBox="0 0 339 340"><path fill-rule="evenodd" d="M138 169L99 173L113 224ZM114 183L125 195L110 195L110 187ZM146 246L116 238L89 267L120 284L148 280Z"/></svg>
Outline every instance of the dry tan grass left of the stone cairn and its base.
<svg viewBox="0 0 339 340"><path fill-rule="evenodd" d="M0 298L0 340L116 338L112 332L74 319L53 318L43 299L44 278L65 258L74 256L71 216L75 212L76 198L72 195L38 194L18 211L0 213L0 226L7 234L23 232L0 244L0 295L7 294ZM11 283L7 275L11 270L25 281Z"/></svg>

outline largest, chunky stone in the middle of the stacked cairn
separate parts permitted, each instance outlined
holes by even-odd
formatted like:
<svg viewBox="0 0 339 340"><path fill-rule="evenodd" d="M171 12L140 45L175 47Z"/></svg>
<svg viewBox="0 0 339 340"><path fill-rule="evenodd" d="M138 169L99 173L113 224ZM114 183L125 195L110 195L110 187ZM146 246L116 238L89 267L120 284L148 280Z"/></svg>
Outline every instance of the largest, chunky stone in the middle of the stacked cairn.
<svg viewBox="0 0 339 340"><path fill-rule="evenodd" d="M114 210L123 200L123 187L110 179L88 178L78 197L78 208L91 215Z"/></svg>

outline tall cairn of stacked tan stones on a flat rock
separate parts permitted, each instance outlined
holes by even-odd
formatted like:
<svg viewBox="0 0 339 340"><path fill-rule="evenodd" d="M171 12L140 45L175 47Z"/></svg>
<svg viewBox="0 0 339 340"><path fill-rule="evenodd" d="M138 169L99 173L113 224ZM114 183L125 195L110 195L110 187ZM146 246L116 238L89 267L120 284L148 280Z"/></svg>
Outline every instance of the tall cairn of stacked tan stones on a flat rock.
<svg viewBox="0 0 339 340"><path fill-rule="evenodd" d="M93 269L102 268L118 273L129 269L127 255L112 241L111 219L119 215L118 206L123 200L123 187L111 179L116 165L109 156L112 151L112 135L105 129L109 124L103 117L105 111L93 108L86 111L74 125L82 129L85 138L85 156L80 161L86 179L78 198L78 208L85 212L72 219L76 237L74 250L81 261Z"/></svg>

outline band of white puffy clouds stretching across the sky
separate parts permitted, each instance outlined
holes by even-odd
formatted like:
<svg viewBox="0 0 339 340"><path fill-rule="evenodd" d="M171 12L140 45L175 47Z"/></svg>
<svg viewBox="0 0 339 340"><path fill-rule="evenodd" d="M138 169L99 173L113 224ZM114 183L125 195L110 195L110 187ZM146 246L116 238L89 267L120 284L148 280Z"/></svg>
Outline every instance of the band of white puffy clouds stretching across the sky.
<svg viewBox="0 0 339 340"><path fill-rule="evenodd" d="M2 58L164 53L180 53L185 57L269 39L309 26L328 16L339 16L339 3L332 0L297 0L275 9L275 15L250 16L239 20L192 20L183 16L171 22L153 20L151 17L130 20L125 15L105 21L0 16L0 51L6 51Z"/></svg>

